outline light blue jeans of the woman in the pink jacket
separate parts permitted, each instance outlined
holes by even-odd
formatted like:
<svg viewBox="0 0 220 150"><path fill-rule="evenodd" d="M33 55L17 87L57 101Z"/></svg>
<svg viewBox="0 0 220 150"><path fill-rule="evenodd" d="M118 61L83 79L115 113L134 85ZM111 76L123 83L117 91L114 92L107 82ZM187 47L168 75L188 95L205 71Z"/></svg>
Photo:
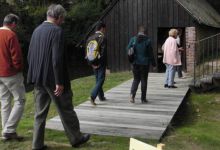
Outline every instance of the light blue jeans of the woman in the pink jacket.
<svg viewBox="0 0 220 150"><path fill-rule="evenodd" d="M168 86L173 86L174 84L174 77L176 72L176 66L165 64L166 65L166 78L165 84Z"/></svg>

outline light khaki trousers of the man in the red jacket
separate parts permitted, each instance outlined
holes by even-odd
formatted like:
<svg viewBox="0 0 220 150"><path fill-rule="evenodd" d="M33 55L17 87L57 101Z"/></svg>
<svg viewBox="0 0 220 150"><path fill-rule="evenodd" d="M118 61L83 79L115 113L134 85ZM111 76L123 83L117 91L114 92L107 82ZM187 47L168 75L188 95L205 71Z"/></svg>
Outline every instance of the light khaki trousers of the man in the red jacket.
<svg viewBox="0 0 220 150"><path fill-rule="evenodd" d="M0 77L0 100L2 134L16 132L25 105L25 88L22 73L11 77ZM12 107L12 100L14 105Z"/></svg>

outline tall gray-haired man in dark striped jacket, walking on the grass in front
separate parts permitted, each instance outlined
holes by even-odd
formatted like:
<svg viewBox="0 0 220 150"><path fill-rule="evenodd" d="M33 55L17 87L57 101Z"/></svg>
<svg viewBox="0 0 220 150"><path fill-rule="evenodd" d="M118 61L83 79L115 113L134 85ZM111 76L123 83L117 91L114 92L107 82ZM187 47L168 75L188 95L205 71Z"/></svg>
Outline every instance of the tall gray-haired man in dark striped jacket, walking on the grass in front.
<svg viewBox="0 0 220 150"><path fill-rule="evenodd" d="M55 103L64 130L73 147L87 142L89 134L82 135L79 120L72 104L72 91L68 77L63 31L65 9L52 4L47 21L39 25L31 38L28 52L28 83L35 85L34 150L45 149L44 130L51 99Z"/></svg>

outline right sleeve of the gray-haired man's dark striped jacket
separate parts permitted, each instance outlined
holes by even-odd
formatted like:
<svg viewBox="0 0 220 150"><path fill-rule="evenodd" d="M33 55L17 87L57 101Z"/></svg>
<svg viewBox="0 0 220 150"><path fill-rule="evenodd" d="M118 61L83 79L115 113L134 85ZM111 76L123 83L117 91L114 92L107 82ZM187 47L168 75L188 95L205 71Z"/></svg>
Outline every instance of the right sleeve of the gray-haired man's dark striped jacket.
<svg viewBox="0 0 220 150"><path fill-rule="evenodd" d="M57 85L63 85L63 65L64 65L64 37L61 28L56 31L53 43L52 43L52 63L55 77L55 83Z"/></svg>

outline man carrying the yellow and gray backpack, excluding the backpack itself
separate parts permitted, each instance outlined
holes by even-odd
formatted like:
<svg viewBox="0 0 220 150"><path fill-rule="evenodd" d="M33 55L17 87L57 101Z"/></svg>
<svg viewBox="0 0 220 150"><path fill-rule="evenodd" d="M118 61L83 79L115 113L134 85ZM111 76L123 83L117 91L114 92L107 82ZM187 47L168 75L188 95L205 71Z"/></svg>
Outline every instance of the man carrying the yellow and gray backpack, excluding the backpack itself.
<svg viewBox="0 0 220 150"><path fill-rule="evenodd" d="M93 68L96 78L96 85L91 92L91 99L90 99L91 104L94 106L96 105L95 99L97 96L99 97L100 101L106 100L102 89L102 86L105 82L105 70L107 64L107 49L106 49L107 47L106 47L105 32L106 32L106 25L100 22L96 26L95 34L93 34L88 39L88 42L95 39L98 42L99 50L100 50L99 52L100 57L96 61L90 64Z"/></svg>

